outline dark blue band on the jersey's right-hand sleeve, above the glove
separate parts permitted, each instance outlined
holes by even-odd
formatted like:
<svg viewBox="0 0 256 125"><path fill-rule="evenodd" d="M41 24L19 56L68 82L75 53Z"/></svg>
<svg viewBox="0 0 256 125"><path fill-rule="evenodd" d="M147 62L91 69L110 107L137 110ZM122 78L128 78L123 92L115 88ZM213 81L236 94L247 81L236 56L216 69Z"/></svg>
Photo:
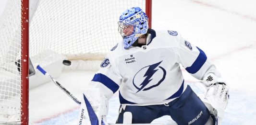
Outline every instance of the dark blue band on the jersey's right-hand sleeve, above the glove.
<svg viewBox="0 0 256 125"><path fill-rule="evenodd" d="M185 68L189 73L191 74L195 74L206 62L207 60L207 56L204 53L203 50L201 50L200 48L196 47L199 50L199 55L198 57L195 59L195 62L192 64L191 67L187 67Z"/></svg>

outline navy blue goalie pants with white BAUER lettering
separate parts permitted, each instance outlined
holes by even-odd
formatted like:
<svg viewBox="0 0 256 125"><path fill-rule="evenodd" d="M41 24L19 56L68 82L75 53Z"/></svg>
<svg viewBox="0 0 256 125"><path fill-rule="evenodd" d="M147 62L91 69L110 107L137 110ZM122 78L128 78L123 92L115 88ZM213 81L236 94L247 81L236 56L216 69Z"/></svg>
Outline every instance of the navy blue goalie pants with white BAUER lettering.
<svg viewBox="0 0 256 125"><path fill-rule="evenodd" d="M122 105L120 108L122 108ZM147 106L126 105L124 110L122 109L122 112L119 114L116 123L122 124L124 112L132 113L133 124L149 124L161 116L170 115L178 125L205 125L210 118L207 107L190 86L187 86L179 98L168 104ZM215 122L214 118L213 121Z"/></svg>

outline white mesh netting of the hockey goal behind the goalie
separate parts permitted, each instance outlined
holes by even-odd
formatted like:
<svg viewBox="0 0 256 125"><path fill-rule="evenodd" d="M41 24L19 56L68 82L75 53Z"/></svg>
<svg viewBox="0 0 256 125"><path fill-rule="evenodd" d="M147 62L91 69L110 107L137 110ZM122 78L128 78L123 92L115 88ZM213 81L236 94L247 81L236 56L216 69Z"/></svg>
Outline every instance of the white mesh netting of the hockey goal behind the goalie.
<svg viewBox="0 0 256 125"><path fill-rule="evenodd" d="M19 61L24 51L22 3L23 0L7 0L0 16L0 124L20 124L24 114L21 71L28 69L23 69ZM64 69L98 68L96 62L122 40L117 32L122 11L136 6L146 11L146 4L146 0L30 0L32 64L53 70L54 77ZM72 61L72 65L62 65L63 60ZM29 78L30 89L40 85L38 81L47 80L37 74L40 73Z"/></svg>

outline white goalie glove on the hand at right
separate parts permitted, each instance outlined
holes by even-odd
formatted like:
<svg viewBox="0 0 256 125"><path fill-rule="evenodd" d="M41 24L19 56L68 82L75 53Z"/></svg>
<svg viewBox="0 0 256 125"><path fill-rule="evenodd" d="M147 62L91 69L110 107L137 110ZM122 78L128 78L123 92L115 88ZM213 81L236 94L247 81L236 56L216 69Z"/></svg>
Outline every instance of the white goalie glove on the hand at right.
<svg viewBox="0 0 256 125"><path fill-rule="evenodd" d="M217 78L213 73L207 74L202 83L206 86L205 99L217 109L224 111L229 101L229 87L222 78Z"/></svg>

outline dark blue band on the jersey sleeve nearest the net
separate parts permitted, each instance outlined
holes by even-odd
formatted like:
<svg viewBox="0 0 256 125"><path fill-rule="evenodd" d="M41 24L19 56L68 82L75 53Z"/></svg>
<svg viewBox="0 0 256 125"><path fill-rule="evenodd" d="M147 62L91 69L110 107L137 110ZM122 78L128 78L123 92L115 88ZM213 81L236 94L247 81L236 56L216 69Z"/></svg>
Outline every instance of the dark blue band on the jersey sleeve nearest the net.
<svg viewBox="0 0 256 125"><path fill-rule="evenodd" d="M95 74L92 81L98 81L108 87L113 93L119 89L119 85L104 74Z"/></svg>

